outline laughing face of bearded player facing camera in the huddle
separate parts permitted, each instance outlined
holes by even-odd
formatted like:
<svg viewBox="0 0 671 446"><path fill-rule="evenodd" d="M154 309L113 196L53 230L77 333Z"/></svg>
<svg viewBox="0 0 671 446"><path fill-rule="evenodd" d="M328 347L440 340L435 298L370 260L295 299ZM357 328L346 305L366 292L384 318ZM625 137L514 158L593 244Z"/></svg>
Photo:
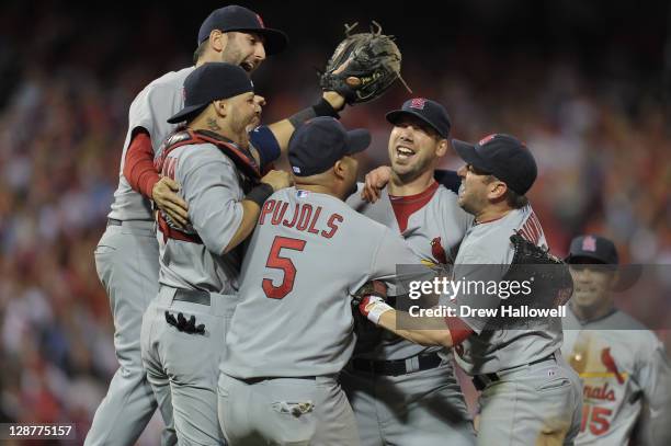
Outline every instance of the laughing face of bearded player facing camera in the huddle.
<svg viewBox="0 0 671 446"><path fill-rule="evenodd" d="M389 136L391 170L401 180L409 181L434 169L436 159L444 153L441 141L443 139L423 121L403 116Z"/></svg>

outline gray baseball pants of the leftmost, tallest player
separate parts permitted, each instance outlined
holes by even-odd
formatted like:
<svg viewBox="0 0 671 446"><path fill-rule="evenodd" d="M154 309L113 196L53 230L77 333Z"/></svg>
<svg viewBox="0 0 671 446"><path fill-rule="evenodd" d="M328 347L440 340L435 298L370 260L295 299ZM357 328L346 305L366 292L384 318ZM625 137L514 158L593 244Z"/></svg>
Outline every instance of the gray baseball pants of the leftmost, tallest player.
<svg viewBox="0 0 671 446"><path fill-rule="evenodd" d="M95 249L95 268L114 319L118 369L100 403L84 445L135 444L157 401L140 358L140 327L147 306L158 291L159 251L153 221L109 225ZM169 398L169 396L168 396ZM170 413L162 445L177 442Z"/></svg>

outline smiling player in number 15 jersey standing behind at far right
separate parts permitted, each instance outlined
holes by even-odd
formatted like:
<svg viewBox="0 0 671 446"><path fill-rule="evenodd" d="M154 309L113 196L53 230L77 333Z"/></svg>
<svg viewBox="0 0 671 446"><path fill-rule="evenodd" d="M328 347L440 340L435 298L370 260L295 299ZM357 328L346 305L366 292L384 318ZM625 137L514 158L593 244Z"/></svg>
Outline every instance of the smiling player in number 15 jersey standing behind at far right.
<svg viewBox="0 0 671 446"><path fill-rule="evenodd" d="M561 351L582 379L582 424L576 445L627 445L647 413L644 443L671 444L671 365L650 330L613 304L615 244L599 236L571 241L573 296Z"/></svg>

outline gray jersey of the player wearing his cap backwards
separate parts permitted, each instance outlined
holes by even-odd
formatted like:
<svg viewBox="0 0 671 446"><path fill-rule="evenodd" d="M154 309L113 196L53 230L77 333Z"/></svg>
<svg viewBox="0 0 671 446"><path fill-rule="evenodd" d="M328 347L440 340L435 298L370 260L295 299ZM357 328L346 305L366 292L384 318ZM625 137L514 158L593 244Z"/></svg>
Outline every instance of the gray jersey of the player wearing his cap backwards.
<svg viewBox="0 0 671 446"><path fill-rule="evenodd" d="M173 288L232 294L238 289L240 250L221 255L242 220L244 197L235 163L212 144L172 150L164 175L178 181L189 204L189 219L202 244L166 239L159 231L159 283Z"/></svg>

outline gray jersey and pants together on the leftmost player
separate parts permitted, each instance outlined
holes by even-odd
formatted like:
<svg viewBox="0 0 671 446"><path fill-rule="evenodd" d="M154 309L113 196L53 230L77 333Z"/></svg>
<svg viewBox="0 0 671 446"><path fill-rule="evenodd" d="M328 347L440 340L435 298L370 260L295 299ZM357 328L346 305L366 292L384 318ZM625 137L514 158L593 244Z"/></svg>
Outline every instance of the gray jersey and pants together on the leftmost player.
<svg viewBox="0 0 671 446"><path fill-rule="evenodd" d="M95 412L84 442L87 445L135 443L156 410L156 398L141 365L139 338L143 313L158 293L158 247L151 204L130 188L123 171L137 127L149 131L155 152L174 129L175 126L166 119L182 108L182 84L193 70L194 67L184 68L156 79L135 98L128 112L118 187L109 214L110 218L123 220L123 226L107 226L95 254L99 277L107 291L114 317L114 347L120 368ZM171 424L166 413L163 418ZM163 444L175 442L174 433L169 431Z"/></svg>

